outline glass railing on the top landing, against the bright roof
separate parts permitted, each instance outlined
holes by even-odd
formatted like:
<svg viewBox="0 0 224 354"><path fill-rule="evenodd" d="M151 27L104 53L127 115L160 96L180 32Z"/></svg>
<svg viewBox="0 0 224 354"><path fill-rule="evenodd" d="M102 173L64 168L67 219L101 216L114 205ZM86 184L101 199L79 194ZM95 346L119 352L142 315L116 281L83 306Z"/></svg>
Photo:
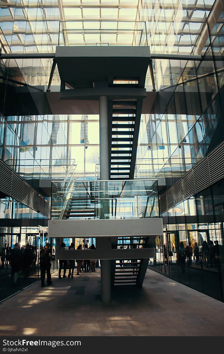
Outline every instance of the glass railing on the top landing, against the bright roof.
<svg viewBox="0 0 224 354"><path fill-rule="evenodd" d="M148 46L145 21L61 21L58 46Z"/></svg>

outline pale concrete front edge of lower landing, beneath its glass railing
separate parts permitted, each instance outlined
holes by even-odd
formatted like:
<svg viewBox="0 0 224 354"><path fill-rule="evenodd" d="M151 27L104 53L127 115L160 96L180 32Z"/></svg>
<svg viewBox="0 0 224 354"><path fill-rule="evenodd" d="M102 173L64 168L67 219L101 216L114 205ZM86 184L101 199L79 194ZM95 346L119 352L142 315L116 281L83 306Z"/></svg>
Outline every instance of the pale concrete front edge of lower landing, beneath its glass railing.
<svg viewBox="0 0 224 354"><path fill-rule="evenodd" d="M48 220L49 237L162 235L162 218L119 220Z"/></svg>

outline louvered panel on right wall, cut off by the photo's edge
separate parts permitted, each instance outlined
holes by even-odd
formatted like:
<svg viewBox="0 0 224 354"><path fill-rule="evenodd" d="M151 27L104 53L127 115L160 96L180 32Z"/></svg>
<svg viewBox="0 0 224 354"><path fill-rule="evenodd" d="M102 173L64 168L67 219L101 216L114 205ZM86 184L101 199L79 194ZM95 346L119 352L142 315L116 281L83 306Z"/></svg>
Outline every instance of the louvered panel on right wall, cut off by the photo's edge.
<svg viewBox="0 0 224 354"><path fill-rule="evenodd" d="M224 144L208 154L208 171L211 184L224 178Z"/></svg>

